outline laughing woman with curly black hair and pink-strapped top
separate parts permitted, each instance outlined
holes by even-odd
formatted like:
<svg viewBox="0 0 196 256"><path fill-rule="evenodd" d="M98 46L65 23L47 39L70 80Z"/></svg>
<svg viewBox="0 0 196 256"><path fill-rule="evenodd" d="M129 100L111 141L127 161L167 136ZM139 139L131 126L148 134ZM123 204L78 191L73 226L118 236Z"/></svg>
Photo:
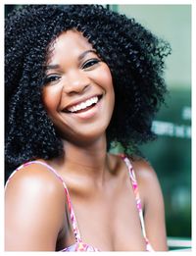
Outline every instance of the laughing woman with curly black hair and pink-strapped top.
<svg viewBox="0 0 196 256"><path fill-rule="evenodd" d="M92 5L27 6L5 35L6 250L167 250L160 184L135 153L170 46Z"/></svg>

